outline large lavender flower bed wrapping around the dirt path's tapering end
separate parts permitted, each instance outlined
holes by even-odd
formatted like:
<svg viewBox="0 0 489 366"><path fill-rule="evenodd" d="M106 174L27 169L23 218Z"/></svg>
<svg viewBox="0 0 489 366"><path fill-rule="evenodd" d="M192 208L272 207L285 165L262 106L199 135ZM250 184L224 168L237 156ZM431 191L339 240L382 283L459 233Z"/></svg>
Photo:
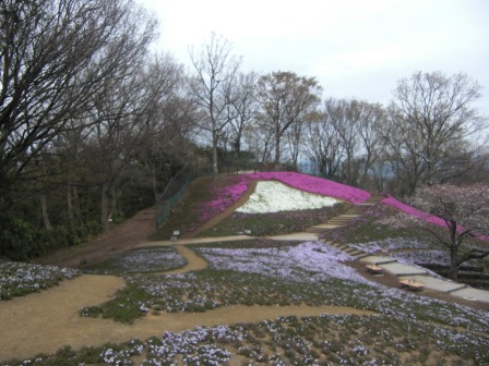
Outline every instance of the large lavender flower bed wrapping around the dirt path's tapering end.
<svg viewBox="0 0 489 366"><path fill-rule="evenodd" d="M484 310L370 282L339 263L350 260L349 255L326 244L247 241L196 247L214 268L172 276L131 274L131 291L146 296L133 301L154 301L154 314L203 312L230 304L330 304L382 315L287 316L196 327L121 344L79 350L67 346L53 355L41 354L9 365L130 365L135 359L144 365L319 365L326 357L332 365L489 362L489 341L479 333L489 327ZM129 292L117 294L115 306L126 307L122 300L128 296Z"/></svg>

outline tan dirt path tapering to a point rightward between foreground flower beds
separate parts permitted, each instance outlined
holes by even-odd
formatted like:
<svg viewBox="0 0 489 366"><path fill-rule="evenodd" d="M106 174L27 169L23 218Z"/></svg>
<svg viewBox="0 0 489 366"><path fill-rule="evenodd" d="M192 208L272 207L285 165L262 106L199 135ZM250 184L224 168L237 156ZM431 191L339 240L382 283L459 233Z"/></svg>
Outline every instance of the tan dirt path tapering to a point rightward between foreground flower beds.
<svg viewBox="0 0 489 366"><path fill-rule="evenodd" d="M79 315L80 308L107 301L123 285L124 281L118 277L82 276L40 293L2 302L0 359L52 354L63 345L81 347L135 338L145 340L165 331L182 331L196 326L253 322L287 315L374 314L342 306L227 306L195 314L148 314L133 325Z"/></svg>

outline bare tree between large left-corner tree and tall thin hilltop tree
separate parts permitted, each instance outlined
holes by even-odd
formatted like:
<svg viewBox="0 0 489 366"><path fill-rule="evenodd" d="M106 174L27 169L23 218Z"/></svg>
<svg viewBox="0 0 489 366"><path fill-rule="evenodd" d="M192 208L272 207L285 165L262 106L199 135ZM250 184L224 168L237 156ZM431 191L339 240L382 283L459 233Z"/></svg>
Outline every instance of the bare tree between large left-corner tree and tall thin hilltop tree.
<svg viewBox="0 0 489 366"><path fill-rule="evenodd" d="M164 137L165 107L182 84L181 66L169 57L150 62L141 53L139 60L132 60L128 71L126 77L119 80L117 89L95 101L96 123L91 138L97 158L92 169L99 181L104 229L108 228L124 184L132 180L135 159L142 156L141 151L148 145L165 144L165 139L147 137Z"/></svg>

